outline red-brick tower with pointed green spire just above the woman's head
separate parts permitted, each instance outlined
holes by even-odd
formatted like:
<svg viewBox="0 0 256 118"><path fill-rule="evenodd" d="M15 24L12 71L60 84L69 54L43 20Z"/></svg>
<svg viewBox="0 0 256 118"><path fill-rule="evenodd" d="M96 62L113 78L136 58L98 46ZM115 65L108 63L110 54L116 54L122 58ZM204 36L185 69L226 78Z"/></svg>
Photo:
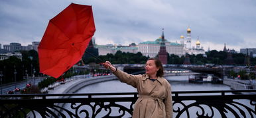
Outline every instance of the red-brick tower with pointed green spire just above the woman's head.
<svg viewBox="0 0 256 118"><path fill-rule="evenodd" d="M165 47L165 42L164 42L164 29L162 29L162 40L160 44L160 50L159 50L159 60L162 62L163 65L167 64L167 51Z"/></svg>

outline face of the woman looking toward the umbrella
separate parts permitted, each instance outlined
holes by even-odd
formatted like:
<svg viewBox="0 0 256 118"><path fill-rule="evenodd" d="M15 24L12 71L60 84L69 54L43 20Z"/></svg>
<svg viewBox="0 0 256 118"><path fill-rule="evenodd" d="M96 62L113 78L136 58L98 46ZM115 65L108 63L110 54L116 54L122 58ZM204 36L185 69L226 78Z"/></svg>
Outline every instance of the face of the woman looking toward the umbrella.
<svg viewBox="0 0 256 118"><path fill-rule="evenodd" d="M155 60L147 61L145 69L146 69L146 74L148 75L157 74L157 71L159 71L159 68L155 64Z"/></svg>

